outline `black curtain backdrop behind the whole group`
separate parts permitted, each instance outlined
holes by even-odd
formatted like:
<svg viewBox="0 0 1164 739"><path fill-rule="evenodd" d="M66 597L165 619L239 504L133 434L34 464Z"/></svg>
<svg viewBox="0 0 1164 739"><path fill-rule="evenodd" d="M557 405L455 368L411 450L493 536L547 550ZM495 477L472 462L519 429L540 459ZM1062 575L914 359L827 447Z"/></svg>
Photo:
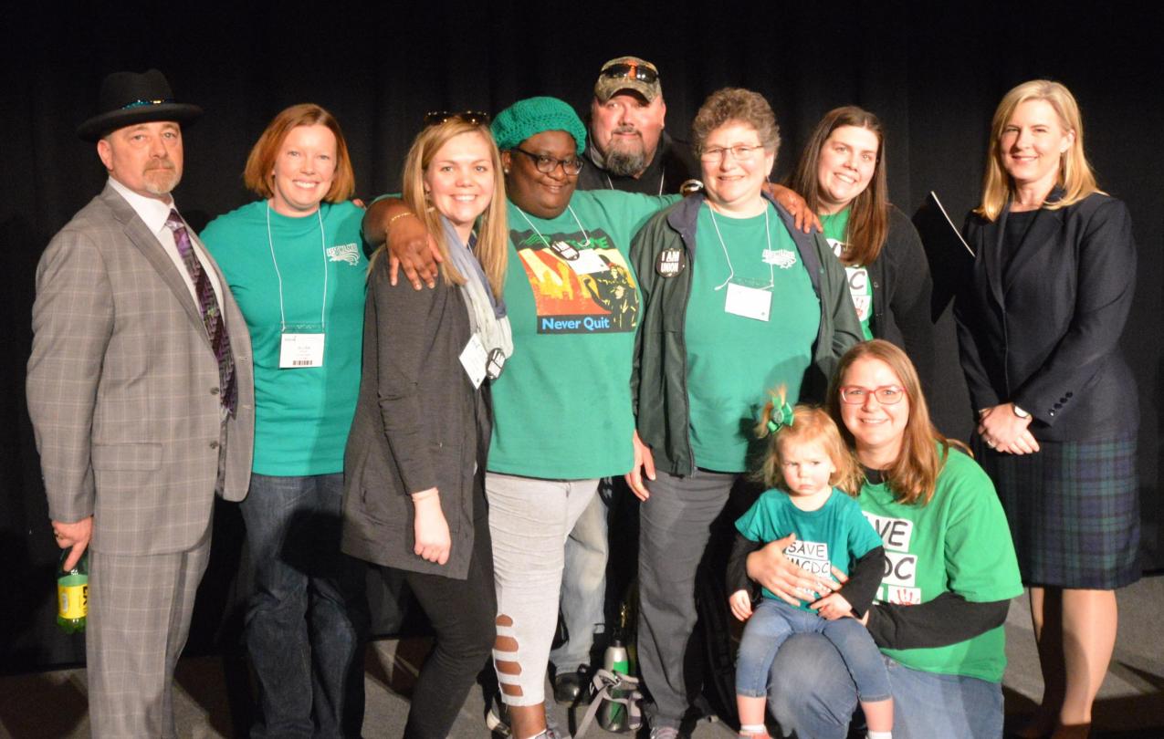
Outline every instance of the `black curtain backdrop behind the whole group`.
<svg viewBox="0 0 1164 739"><path fill-rule="evenodd" d="M1136 3L1086 12L1042 3L40 3L9 8L0 50L3 106L0 305L0 672L76 662L79 638L54 625L49 530L24 404L36 262L102 186L91 144L74 134L101 78L156 66L179 100L206 115L185 133L177 190L196 227L250 200L241 171L270 118L314 101L343 125L357 192L395 190L421 118L432 109L497 112L553 94L589 106L601 64L636 54L662 73L669 130L686 138L703 98L723 86L764 93L780 121L776 175L793 166L828 109L856 104L887 128L890 197L907 213L935 190L954 221L977 200L991 114L1015 84L1065 83L1086 123L1100 185L1127 201L1140 247L1138 289L1124 335L1140 386L1144 567L1162 564L1161 244L1164 240L1164 54L1159 24ZM1151 15L1155 17L1155 14ZM960 378L951 378L951 385ZM968 428L968 425L967 425ZM232 588L241 540L220 505L214 560L199 596L192 648L234 634ZM220 646L220 645L219 645Z"/></svg>

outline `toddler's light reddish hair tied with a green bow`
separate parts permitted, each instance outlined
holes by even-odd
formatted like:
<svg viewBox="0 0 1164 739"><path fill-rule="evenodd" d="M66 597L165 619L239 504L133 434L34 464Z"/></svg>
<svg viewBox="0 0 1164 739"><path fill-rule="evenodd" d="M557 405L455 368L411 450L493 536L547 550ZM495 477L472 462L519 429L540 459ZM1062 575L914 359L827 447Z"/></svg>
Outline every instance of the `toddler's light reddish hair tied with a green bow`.
<svg viewBox="0 0 1164 739"><path fill-rule="evenodd" d="M788 484L785 482L783 470L783 446L786 443L817 442L824 447L825 454L837 470L829 477L829 484L844 490L847 495L857 497L860 490L860 466L853 457L852 452L845 445L829 414L815 405L797 405L793 408L793 422L779 426L775 431L768 426L773 420L773 414L779 405L785 404L785 388L769 391L772 400L764 406L760 413L760 422L755 425L755 435L764 439L771 435L764 462L753 476L769 488L780 488L788 492Z"/></svg>

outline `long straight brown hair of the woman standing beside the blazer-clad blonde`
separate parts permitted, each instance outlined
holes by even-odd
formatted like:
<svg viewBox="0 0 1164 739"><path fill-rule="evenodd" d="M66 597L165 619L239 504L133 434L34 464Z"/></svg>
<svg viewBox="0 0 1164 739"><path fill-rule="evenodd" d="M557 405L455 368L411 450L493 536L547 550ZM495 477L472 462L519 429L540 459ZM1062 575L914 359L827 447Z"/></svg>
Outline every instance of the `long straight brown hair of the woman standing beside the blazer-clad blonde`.
<svg viewBox="0 0 1164 739"><path fill-rule="evenodd" d="M840 255L845 264L872 264L881 253L889 233L889 187L885 176L885 130L876 115L853 105L833 108L824 114L801 154L796 172L788 186L801 193L814 213L821 212L821 183L817 176L821 150L832 132L842 126L864 128L876 136L876 163L873 177L861 194L853 198L849 211L845 242L849 250Z"/></svg>

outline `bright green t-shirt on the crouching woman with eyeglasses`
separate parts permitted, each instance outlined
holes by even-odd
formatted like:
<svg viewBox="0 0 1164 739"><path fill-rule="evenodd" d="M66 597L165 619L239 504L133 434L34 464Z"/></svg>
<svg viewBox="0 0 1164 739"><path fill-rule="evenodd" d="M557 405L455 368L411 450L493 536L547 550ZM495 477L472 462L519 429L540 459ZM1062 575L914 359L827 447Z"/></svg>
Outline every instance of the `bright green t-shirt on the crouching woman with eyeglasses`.
<svg viewBox="0 0 1164 739"><path fill-rule="evenodd" d="M961 452L950 449L925 505L896 503L883 483L866 483L858 503L885 542L887 571L878 602L916 605L954 592L971 603L988 603L1022 594L994 484ZM914 669L992 682L1002 680L1007 666L1002 626L946 647L882 652Z"/></svg>

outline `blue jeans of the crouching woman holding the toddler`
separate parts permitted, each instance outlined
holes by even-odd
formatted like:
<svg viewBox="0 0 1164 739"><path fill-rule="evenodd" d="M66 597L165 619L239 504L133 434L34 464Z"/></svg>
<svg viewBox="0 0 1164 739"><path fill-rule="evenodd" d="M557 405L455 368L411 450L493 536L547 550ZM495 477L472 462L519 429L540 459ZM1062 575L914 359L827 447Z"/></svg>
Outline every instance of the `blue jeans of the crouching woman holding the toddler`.
<svg viewBox="0 0 1164 739"><path fill-rule="evenodd" d="M1001 683L910 669L883 658L893 689L894 739L1000 739ZM844 660L817 634L793 635L769 675L768 710L783 736L845 739L857 687Z"/></svg>

